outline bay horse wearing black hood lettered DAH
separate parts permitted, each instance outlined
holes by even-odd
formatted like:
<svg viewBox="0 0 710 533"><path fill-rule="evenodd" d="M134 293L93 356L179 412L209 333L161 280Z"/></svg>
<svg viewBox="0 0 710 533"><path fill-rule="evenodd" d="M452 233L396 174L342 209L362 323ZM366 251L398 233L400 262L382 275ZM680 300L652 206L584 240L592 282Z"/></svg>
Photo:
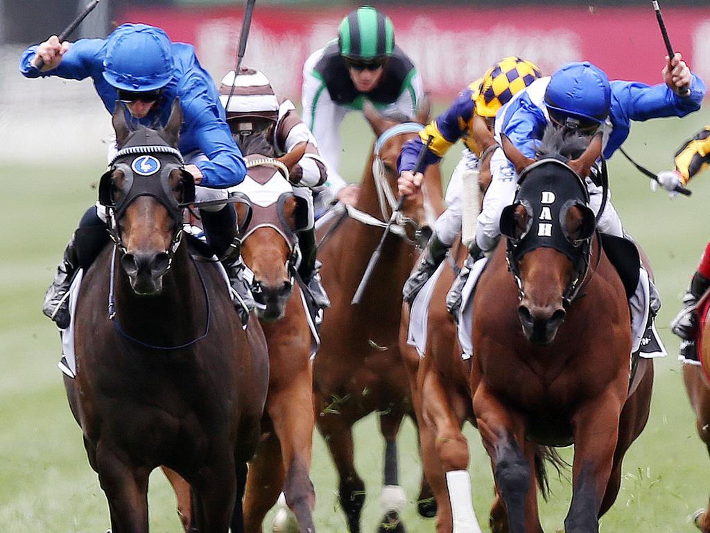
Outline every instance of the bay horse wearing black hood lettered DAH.
<svg viewBox="0 0 710 533"><path fill-rule="evenodd" d="M552 144L562 149L566 142ZM474 297L470 377L496 480L494 533L542 531L540 446L572 443L564 529L599 532L599 517L618 495L623 456L648 420L652 362L640 360L630 371L625 289L587 205L584 178L601 146L597 135L577 159L565 163L558 150L534 161L503 138L520 181L501 215L506 239Z"/></svg>

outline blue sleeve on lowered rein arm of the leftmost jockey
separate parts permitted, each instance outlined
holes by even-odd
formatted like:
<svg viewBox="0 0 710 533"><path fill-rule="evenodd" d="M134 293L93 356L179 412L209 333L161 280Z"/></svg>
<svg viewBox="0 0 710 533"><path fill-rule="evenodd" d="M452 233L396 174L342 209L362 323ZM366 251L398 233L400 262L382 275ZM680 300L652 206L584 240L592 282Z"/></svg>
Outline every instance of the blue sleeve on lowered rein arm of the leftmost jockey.
<svg viewBox="0 0 710 533"><path fill-rule="evenodd" d="M200 161L204 187L226 188L244 181L246 166L241 151L231 137L229 126L220 117L217 102L209 98L204 82L192 79L181 91L185 129L209 161Z"/></svg>

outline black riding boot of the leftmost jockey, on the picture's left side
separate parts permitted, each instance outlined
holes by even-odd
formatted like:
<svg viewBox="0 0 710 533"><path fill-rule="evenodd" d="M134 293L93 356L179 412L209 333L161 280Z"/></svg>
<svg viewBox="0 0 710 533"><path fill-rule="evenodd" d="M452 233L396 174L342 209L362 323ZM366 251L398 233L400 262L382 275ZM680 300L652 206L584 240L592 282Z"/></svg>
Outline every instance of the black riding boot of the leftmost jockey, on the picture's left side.
<svg viewBox="0 0 710 533"><path fill-rule="evenodd" d="M108 240L107 225L97 216L95 207L89 208L67 243L42 306L43 313L60 329L67 328L70 323L69 289L75 274L80 268L91 266Z"/></svg>

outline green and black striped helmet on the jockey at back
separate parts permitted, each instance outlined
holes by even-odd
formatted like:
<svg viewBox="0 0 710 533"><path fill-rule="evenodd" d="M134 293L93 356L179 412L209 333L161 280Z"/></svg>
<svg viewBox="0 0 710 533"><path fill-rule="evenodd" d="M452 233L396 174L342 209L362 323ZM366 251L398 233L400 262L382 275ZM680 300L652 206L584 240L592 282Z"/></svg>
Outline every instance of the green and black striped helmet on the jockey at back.
<svg viewBox="0 0 710 533"><path fill-rule="evenodd" d="M338 46L344 58L385 58L395 49L395 27L388 16L363 6L343 18L338 28Z"/></svg>

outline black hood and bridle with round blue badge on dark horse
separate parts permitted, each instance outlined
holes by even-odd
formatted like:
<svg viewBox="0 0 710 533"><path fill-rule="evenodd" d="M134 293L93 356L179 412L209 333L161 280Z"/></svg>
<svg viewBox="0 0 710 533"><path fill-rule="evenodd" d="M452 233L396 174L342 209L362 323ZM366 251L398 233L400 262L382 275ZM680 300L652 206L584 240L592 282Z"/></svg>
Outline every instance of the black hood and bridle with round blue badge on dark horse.
<svg viewBox="0 0 710 533"><path fill-rule="evenodd" d="M130 158L133 158L131 163L129 163ZM141 171L141 165L145 166L145 171ZM168 254L168 269L170 269L175 251L182 241L183 208L195 201L195 181L192 175L185 171L185 161L180 151L171 146L131 146L119 150L111 159L109 167L99 181L99 203L107 208L109 236L119 251L126 254L119 220L136 198L141 196L155 198L168 210L168 215L173 220L173 236L168 249L165 250ZM124 173L127 184L126 193L118 203L113 196L113 175L116 170ZM184 189L181 202L175 200L169 186L170 173L175 170L179 170L185 178L182 181Z"/></svg>

